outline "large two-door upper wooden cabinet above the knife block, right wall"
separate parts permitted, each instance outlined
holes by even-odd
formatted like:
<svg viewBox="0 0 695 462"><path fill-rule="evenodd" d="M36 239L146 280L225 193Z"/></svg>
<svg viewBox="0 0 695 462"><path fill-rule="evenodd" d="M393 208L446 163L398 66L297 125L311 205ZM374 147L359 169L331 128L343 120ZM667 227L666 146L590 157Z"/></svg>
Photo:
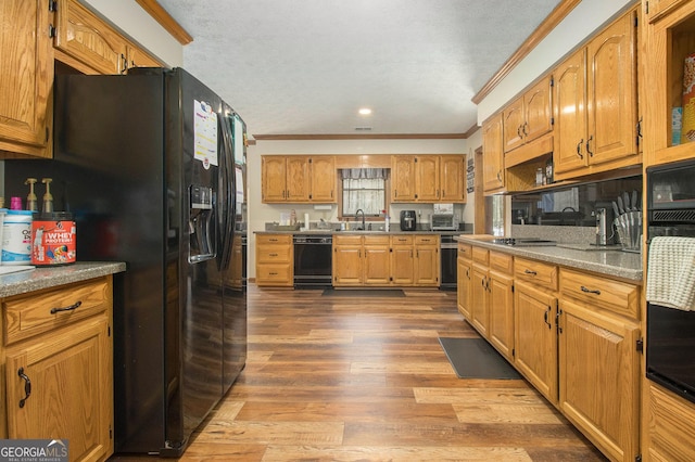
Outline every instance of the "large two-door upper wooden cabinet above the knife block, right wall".
<svg viewBox="0 0 695 462"><path fill-rule="evenodd" d="M555 180L641 162L635 17L621 16L554 72Z"/></svg>

